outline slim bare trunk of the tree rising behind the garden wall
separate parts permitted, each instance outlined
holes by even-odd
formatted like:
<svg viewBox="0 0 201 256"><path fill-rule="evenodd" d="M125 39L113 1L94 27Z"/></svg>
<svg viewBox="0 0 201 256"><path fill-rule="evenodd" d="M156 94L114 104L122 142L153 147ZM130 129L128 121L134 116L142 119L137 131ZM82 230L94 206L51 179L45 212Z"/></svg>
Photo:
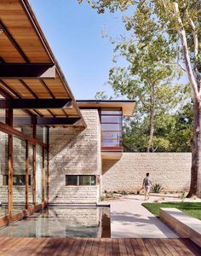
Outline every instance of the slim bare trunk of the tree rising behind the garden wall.
<svg viewBox="0 0 201 256"><path fill-rule="evenodd" d="M149 153L151 148L153 151L153 133L154 133L154 114L155 114L155 86L152 86L152 93L150 96L150 121L149 121L149 126L150 126L150 131L149 131L149 141L148 141L148 147L146 148L146 152Z"/></svg>

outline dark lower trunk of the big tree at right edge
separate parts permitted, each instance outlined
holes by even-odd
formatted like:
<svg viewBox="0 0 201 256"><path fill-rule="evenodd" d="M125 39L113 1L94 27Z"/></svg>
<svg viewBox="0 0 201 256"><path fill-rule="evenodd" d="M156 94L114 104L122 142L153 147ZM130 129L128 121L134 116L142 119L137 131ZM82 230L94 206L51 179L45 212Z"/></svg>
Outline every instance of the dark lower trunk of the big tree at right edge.
<svg viewBox="0 0 201 256"><path fill-rule="evenodd" d="M191 185L187 197L201 197L201 103L194 101Z"/></svg>

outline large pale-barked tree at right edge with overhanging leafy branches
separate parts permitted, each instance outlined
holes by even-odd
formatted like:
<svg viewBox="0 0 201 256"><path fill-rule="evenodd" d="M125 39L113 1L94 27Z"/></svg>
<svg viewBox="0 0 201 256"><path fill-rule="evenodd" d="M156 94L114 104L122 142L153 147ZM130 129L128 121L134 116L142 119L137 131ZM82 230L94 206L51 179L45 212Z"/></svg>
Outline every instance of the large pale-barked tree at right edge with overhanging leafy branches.
<svg viewBox="0 0 201 256"><path fill-rule="evenodd" d="M82 1L80 1L82 2ZM90 1L89 1L90 2ZM158 20L158 30L169 44L180 45L182 65L187 72L193 102L193 136L191 186L188 196L201 196L201 1L200 0L96 0L93 7L104 12L127 9L134 12L146 3L152 9L152 19ZM149 32L149 27L146 27ZM179 47L179 48L180 48Z"/></svg>

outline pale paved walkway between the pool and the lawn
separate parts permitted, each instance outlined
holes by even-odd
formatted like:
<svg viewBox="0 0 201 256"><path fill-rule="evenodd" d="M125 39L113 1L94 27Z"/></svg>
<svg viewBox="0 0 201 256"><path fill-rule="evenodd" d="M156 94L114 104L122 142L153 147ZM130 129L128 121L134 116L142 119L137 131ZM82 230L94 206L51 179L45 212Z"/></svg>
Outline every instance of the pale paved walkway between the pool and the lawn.
<svg viewBox="0 0 201 256"><path fill-rule="evenodd" d="M149 202L180 201L178 195L152 195ZM159 218L141 206L144 195L127 195L115 201L105 201L111 206L112 238L178 238Z"/></svg>

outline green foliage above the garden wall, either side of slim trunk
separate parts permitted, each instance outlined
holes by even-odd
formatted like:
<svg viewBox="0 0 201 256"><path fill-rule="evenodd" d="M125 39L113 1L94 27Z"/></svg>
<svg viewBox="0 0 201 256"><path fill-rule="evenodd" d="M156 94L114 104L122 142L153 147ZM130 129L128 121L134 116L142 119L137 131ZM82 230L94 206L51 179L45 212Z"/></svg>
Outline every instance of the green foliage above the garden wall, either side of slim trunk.
<svg viewBox="0 0 201 256"><path fill-rule="evenodd" d="M149 119L139 116L124 121L123 150L146 152ZM176 113L159 113L155 119L154 152L190 152L192 139L192 103Z"/></svg>

